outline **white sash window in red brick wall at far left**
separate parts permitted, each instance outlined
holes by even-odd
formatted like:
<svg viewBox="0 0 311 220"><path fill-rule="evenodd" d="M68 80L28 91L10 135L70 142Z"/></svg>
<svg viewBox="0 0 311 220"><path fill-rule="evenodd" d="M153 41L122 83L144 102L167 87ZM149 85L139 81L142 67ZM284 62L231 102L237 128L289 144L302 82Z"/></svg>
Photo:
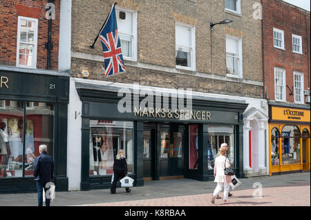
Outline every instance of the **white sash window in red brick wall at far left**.
<svg viewBox="0 0 311 220"><path fill-rule="evenodd" d="M17 27L17 66L36 68L38 19L19 16Z"/></svg>

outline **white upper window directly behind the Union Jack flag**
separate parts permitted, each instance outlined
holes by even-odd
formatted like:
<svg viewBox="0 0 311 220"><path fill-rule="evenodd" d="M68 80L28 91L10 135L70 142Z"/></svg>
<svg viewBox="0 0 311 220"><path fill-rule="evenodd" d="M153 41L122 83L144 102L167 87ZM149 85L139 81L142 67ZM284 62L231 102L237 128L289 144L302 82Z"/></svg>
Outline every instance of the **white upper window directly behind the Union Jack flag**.
<svg viewBox="0 0 311 220"><path fill-rule="evenodd" d="M117 32L119 33L122 56L124 59L137 61L137 15L124 8L115 8Z"/></svg>

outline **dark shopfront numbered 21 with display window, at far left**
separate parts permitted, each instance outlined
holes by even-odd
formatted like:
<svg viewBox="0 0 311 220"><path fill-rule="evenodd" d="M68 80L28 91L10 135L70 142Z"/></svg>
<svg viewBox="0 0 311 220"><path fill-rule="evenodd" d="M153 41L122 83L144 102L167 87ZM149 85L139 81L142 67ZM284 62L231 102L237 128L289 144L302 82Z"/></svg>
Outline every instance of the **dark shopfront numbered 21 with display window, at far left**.
<svg viewBox="0 0 311 220"><path fill-rule="evenodd" d="M0 68L0 193L36 192L33 177L39 145L54 159L56 190L66 177L69 77L65 72Z"/></svg>

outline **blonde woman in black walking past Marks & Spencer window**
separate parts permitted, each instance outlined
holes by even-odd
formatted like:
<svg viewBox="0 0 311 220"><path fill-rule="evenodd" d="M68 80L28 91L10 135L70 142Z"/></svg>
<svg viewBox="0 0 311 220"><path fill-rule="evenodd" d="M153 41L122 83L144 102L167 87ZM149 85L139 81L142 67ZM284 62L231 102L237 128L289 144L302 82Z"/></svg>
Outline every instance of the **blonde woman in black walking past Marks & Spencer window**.
<svg viewBox="0 0 311 220"><path fill-rule="evenodd" d="M127 176L127 163L124 157L124 150L121 149L117 152L115 156L115 161L113 163L113 182L111 184L110 193L115 194L117 188L117 181ZM130 188L125 188L126 192L131 192Z"/></svg>

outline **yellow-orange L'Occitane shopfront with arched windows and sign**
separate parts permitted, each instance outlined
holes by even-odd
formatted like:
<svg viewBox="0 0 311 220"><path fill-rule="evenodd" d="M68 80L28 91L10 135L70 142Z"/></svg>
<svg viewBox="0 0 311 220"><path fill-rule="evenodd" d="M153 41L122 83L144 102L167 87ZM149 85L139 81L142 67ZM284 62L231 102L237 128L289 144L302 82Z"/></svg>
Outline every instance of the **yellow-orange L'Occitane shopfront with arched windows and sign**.
<svg viewBox="0 0 311 220"><path fill-rule="evenodd" d="M310 109L269 106L269 117L270 176L310 170Z"/></svg>

